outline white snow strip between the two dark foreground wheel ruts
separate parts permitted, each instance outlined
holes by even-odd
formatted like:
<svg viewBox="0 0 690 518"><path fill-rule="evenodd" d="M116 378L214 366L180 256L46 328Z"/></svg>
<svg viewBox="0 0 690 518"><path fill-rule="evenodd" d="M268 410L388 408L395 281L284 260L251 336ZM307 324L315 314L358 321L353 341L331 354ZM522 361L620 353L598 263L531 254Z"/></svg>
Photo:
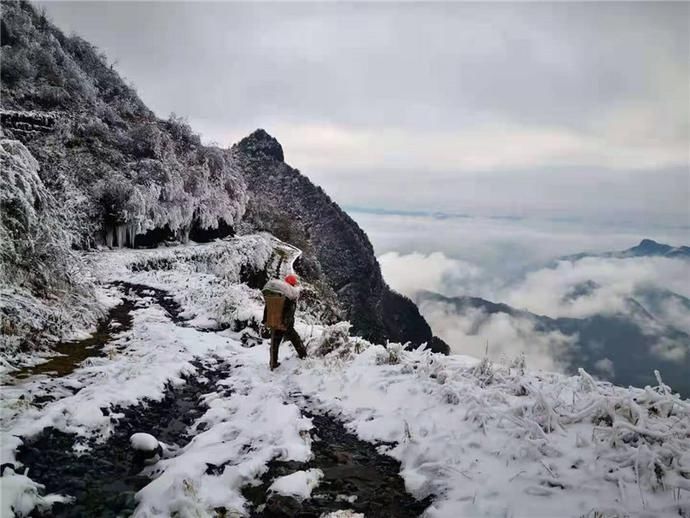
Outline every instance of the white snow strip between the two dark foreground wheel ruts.
<svg viewBox="0 0 690 518"><path fill-rule="evenodd" d="M285 387L267 368L267 348L235 341L231 347L228 378L204 397L209 408L192 426L205 431L155 466L157 478L138 493L135 516L205 515L216 507L243 514L240 489L256 482L271 459L311 458L311 420L286 401Z"/></svg>

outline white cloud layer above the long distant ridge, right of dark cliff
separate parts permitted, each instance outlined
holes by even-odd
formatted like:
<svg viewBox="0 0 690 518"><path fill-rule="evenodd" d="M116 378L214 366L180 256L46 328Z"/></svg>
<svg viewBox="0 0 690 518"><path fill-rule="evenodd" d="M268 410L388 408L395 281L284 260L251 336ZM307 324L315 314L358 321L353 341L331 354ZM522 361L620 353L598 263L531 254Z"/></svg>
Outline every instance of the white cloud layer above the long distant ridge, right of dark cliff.
<svg viewBox="0 0 690 518"><path fill-rule="evenodd" d="M640 240L616 227L595 232L571 222L474 217L439 221L370 215L357 221L372 236L386 281L411 297L420 290L479 296L552 318L625 310L626 300L642 297L640 291L648 286L690 298L688 261L663 257L553 261L585 250L628 248ZM676 234L676 239L684 239L683 235ZM577 300L568 297L587 282L598 288ZM657 319L681 329L687 321L680 318L687 316L684 304L682 298L650 299Z"/></svg>

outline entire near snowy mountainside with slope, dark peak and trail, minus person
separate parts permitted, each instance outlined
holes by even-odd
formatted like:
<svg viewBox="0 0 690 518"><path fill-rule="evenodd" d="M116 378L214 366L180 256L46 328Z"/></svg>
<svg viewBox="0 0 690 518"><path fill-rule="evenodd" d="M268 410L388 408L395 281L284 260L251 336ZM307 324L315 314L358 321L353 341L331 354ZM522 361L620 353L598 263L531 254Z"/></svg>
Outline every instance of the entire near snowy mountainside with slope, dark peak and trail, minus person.
<svg viewBox="0 0 690 518"><path fill-rule="evenodd" d="M2 516L690 515L690 408L660 377L410 347L447 348L275 138L203 146L2 8ZM259 288L293 266L309 357L270 372Z"/></svg>

